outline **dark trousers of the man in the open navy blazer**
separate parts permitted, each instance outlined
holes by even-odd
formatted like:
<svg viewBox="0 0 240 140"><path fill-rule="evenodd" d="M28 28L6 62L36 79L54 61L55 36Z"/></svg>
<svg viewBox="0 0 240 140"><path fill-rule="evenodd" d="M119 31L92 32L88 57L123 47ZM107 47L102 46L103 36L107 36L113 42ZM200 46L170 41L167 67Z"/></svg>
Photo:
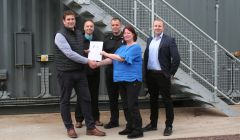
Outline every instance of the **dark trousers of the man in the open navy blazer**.
<svg viewBox="0 0 240 140"><path fill-rule="evenodd" d="M172 127L174 120L173 103L170 94L171 79L163 73L147 72L147 85L150 94L151 124L157 127L158 122L158 96L162 96L163 104L166 110L166 127Z"/></svg>

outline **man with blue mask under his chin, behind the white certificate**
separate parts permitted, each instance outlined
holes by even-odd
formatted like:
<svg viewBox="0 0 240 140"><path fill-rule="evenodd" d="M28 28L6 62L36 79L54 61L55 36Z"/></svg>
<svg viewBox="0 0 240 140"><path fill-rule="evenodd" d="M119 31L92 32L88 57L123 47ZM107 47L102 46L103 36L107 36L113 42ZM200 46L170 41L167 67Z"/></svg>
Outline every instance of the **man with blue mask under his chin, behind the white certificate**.
<svg viewBox="0 0 240 140"><path fill-rule="evenodd" d="M94 32L94 22L92 20L86 20L84 22L84 33L83 33L83 48L84 56L88 56L88 50L90 41L101 41L101 36L96 35ZM100 112L98 108L98 97L99 97L99 83L100 83L100 68L92 69L88 65L85 66L85 71L87 73L88 87L91 95L91 105L92 105L92 115L97 126L102 126L103 123L100 122ZM84 120L81 106L80 97L77 97L77 104L75 108L75 119L76 128L82 127L82 121Z"/></svg>

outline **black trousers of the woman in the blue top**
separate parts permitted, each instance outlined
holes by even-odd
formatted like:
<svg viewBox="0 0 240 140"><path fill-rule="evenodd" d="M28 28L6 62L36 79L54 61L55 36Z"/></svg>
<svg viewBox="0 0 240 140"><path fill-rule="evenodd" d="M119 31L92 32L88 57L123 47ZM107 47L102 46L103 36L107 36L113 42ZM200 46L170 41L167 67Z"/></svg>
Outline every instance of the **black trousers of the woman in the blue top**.
<svg viewBox="0 0 240 140"><path fill-rule="evenodd" d="M127 121L126 128L142 131L142 117L138 107L141 82L118 82L122 96L123 110Z"/></svg>

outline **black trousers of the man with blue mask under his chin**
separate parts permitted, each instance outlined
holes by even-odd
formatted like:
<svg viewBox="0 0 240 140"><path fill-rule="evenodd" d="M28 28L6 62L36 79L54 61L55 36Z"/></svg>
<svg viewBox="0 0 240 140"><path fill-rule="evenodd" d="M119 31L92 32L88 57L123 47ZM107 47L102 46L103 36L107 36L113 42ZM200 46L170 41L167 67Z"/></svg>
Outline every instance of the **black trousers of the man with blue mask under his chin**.
<svg viewBox="0 0 240 140"><path fill-rule="evenodd" d="M87 74L87 80L88 80L88 87L91 95L93 119L94 121L99 121L100 113L99 113L99 107L98 107L98 97L99 97L100 71ZM77 103L75 107L75 119L77 122L82 122L84 120L79 96L77 96Z"/></svg>

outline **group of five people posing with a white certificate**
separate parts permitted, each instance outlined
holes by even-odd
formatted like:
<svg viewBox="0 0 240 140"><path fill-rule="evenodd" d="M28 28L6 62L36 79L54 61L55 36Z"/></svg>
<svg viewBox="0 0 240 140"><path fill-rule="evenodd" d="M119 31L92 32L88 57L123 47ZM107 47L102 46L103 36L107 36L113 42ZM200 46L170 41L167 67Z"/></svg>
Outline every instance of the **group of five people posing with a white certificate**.
<svg viewBox="0 0 240 140"><path fill-rule="evenodd" d="M105 136L96 126L111 129L119 126L118 99L121 96L126 127L119 135L128 138L143 137L143 132L157 130L158 96L161 94L166 108L164 136L172 134L174 120L171 99L171 78L176 73L180 56L174 38L163 33L164 22L156 19L153 23L154 37L147 40L142 61L141 46L136 42L137 33L131 25L121 31L119 18L111 20L112 32L103 39L103 60L96 62L87 58L90 41L100 41L94 33L94 22L86 20L84 32L76 29L75 13L68 10L63 14L63 28L55 36L55 62L60 85L60 112L70 138L76 138L70 114L72 89L77 94L75 111L76 125L81 128L85 120L86 134ZM142 64L144 62L144 64ZM109 96L110 121L103 125L98 108L99 67L106 65L106 87ZM142 86L142 67L146 71L146 83L150 94L150 123L142 127L138 106L138 95Z"/></svg>

